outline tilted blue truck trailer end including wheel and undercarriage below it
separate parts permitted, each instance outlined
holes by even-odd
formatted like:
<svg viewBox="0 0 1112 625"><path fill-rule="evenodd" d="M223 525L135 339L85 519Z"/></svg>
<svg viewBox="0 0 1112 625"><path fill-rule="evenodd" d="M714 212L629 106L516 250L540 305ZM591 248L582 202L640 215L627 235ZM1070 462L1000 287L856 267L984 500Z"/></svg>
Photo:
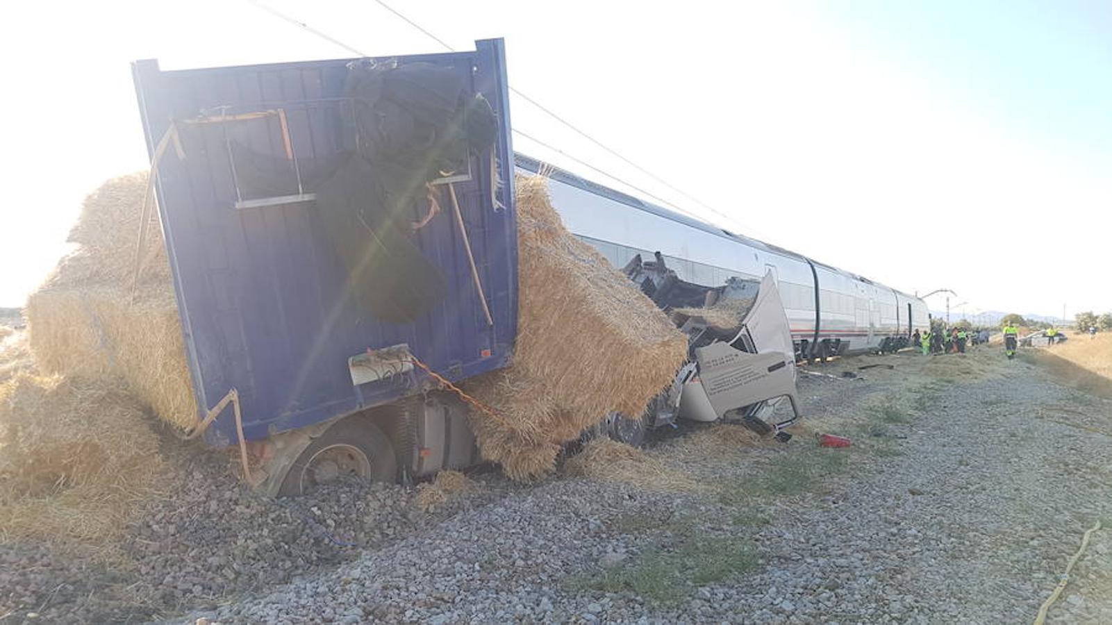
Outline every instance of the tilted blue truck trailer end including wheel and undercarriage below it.
<svg viewBox="0 0 1112 625"><path fill-rule="evenodd" d="M198 419L241 414L206 442L242 438L276 495L474 463L424 367L458 381L514 349L503 41L132 73Z"/></svg>

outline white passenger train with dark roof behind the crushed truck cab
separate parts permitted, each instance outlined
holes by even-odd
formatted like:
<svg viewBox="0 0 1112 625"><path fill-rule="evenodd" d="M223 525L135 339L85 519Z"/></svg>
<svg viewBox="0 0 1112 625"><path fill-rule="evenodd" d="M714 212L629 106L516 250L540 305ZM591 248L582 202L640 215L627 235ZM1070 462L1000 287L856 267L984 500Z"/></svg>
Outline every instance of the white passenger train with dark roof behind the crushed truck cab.
<svg viewBox="0 0 1112 625"><path fill-rule="evenodd" d="M518 171L542 163L516 155ZM743 237L544 165L564 225L615 267L659 251L682 280L719 286L772 271L800 358L888 351L930 327L926 304L794 251Z"/></svg>

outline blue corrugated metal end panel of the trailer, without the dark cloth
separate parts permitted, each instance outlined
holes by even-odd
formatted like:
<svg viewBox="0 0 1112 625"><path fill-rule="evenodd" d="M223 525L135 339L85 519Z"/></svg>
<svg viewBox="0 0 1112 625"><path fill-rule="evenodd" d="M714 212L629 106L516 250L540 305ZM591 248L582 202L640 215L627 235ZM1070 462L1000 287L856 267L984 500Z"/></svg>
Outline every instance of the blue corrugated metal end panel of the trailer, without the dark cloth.
<svg viewBox="0 0 1112 625"><path fill-rule="evenodd" d="M439 214L429 216L430 202L415 202L411 215L394 225L405 230L401 245L416 250L415 264L431 267L445 291L411 320L387 320L351 296L350 271L312 192L321 172L334 171L330 163L363 148L353 135L354 120L363 119L360 102L346 86L349 63L360 61L180 71L161 71L157 61L133 65L148 149L153 155L163 138L171 146L158 162L158 216L197 403L203 411L237 388L248 439L417 390L419 370L356 376L364 384L354 384L349 359L368 349L405 345L449 379L502 367L513 349L517 240L502 40L478 41L468 52L375 59L380 67L424 63L461 81L467 98L489 103L496 127L493 147L463 149L465 165L444 172L470 254L446 186L436 191ZM444 97L420 91L426 88L415 82L406 98L420 105L421 98ZM424 122L419 111L409 112ZM398 130L361 129L384 136ZM274 176L280 170L287 175ZM393 181L407 172L374 175ZM394 260L386 256L370 266ZM211 444L235 440L231 419L222 416L206 436Z"/></svg>

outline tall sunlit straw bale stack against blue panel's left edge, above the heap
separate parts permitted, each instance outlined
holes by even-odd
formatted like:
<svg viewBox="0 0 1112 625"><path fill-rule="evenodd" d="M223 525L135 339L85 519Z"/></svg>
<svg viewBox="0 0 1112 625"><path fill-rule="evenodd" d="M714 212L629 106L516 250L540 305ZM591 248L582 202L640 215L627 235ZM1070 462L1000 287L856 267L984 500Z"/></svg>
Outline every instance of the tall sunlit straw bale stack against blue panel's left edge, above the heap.
<svg viewBox="0 0 1112 625"><path fill-rule="evenodd" d="M160 418L187 429L198 409L157 224L132 300L145 186L146 175L123 176L86 199L70 232L81 247L28 298L29 341L43 373L122 379Z"/></svg>

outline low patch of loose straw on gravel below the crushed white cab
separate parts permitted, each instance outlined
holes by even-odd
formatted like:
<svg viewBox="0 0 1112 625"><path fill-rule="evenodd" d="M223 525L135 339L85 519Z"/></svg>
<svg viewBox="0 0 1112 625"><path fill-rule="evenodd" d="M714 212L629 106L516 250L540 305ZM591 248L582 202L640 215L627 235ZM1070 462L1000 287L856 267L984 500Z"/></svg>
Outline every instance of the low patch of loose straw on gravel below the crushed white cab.
<svg viewBox="0 0 1112 625"><path fill-rule="evenodd" d="M652 490L688 492L698 483L659 458L609 438L595 438L564 465L569 475L633 484Z"/></svg>

